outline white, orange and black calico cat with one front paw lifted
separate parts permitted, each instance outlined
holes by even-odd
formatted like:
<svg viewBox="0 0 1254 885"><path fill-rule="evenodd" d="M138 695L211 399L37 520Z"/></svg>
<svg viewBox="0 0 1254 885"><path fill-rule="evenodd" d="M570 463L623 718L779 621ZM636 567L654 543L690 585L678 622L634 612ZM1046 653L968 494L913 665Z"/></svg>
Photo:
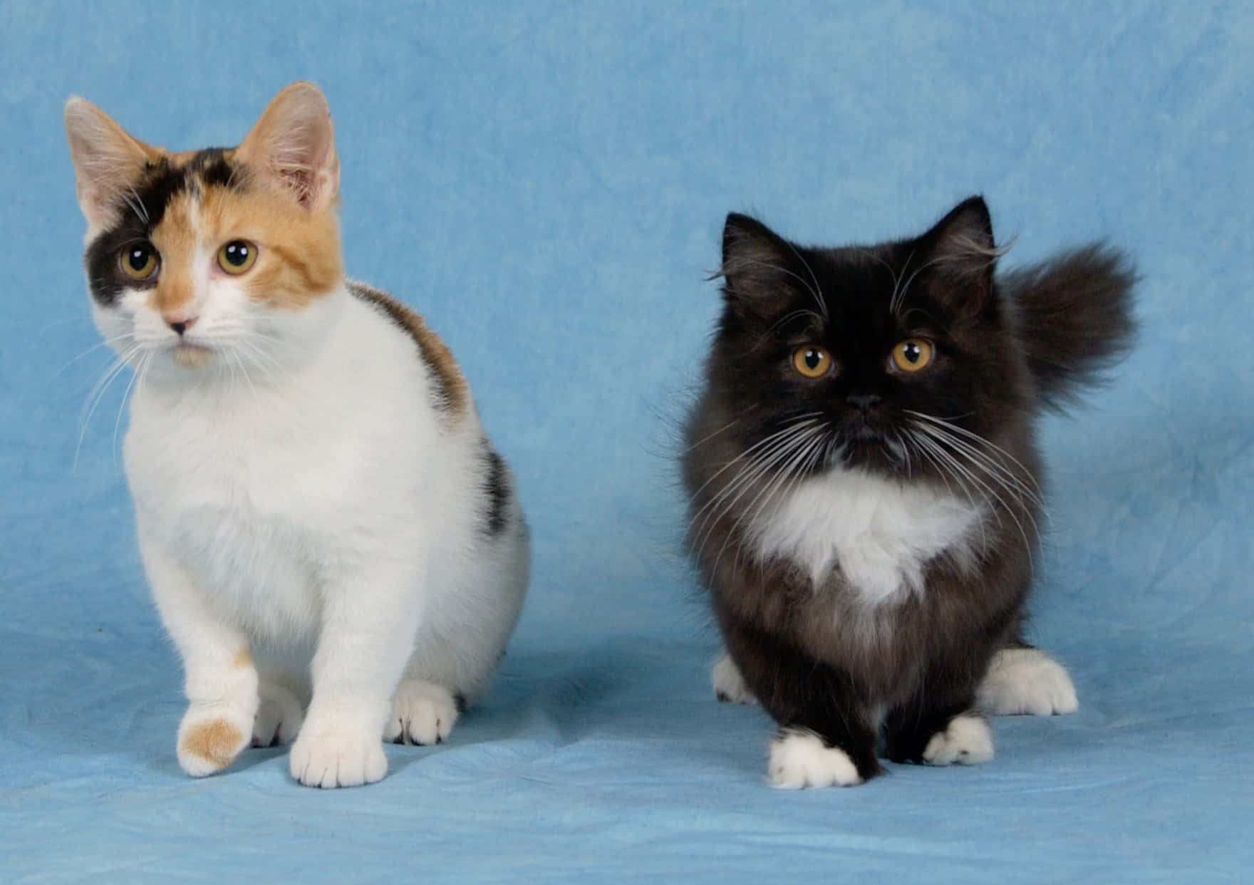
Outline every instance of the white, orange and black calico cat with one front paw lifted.
<svg viewBox="0 0 1254 885"><path fill-rule="evenodd" d="M127 479L183 659L178 761L295 738L301 783L380 780L487 686L528 582L510 473L423 320L350 282L319 89L171 153L73 98L92 312L135 371Z"/></svg>

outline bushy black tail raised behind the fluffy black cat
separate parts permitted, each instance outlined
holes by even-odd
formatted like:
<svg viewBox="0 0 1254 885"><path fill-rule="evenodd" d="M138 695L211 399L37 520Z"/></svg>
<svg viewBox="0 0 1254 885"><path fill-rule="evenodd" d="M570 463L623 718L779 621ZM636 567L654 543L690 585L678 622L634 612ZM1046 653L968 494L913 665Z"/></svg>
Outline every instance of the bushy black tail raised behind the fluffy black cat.
<svg viewBox="0 0 1254 885"><path fill-rule="evenodd" d="M1041 401L1062 409L1101 381L1136 337L1132 262L1092 243L1001 277Z"/></svg>

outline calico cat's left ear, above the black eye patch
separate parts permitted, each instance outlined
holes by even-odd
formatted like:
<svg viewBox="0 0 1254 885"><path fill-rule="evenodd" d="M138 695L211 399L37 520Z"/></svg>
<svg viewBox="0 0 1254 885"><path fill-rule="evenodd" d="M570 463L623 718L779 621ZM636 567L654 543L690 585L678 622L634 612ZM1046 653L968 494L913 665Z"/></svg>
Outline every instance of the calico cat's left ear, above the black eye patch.
<svg viewBox="0 0 1254 885"><path fill-rule="evenodd" d="M65 135L74 160L79 208L90 229L114 223L128 192L155 153L108 114L78 97L65 103Z"/></svg>

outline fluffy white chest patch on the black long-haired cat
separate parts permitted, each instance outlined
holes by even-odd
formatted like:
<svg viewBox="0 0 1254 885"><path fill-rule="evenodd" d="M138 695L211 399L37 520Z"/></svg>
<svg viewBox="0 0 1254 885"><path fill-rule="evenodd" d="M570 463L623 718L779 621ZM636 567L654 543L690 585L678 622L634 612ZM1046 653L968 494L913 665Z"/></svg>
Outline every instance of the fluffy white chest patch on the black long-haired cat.
<svg viewBox="0 0 1254 885"><path fill-rule="evenodd" d="M922 593L935 557L967 558L981 518L978 506L944 490L833 470L762 508L749 537L761 560L789 560L816 587L839 568L877 605Z"/></svg>

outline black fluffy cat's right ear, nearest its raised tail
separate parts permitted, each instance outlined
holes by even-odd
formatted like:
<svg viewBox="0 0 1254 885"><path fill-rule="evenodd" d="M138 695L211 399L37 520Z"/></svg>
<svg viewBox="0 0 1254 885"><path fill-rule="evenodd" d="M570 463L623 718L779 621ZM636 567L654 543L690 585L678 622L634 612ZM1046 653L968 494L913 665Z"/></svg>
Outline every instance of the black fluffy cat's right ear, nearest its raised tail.
<svg viewBox="0 0 1254 885"><path fill-rule="evenodd" d="M1003 249L993 242L993 219L982 197L969 197L922 237L933 295L958 313L978 313L993 292L993 270Z"/></svg>

